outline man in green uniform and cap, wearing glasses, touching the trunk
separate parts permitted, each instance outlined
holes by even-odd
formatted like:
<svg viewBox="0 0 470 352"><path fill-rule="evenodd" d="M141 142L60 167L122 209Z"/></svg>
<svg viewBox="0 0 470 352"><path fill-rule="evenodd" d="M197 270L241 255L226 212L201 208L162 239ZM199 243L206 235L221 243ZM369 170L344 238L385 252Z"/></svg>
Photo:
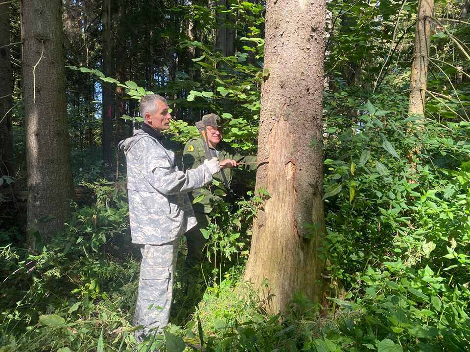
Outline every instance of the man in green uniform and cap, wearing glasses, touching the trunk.
<svg viewBox="0 0 470 352"><path fill-rule="evenodd" d="M256 162L257 157L252 155L240 155L229 144L225 143L223 139L223 126L222 120L218 115L208 114L202 117L202 121L206 126L207 138L209 146L211 147L212 154L217 155L217 159L221 161L232 162L235 166L240 163ZM186 143L183 151L183 170L197 168L206 160L206 153L202 138L193 138ZM247 164L246 169L256 170L257 164ZM232 169L226 168L223 170L225 178L227 179L227 186L230 189L232 184ZM221 172L215 174L214 179L223 183L224 179ZM211 200L215 197L212 192L216 187L200 188L193 190L189 193L189 198L192 200L204 195L204 198L193 204L194 214L196 216L197 225L190 229L186 234L188 243L188 255L186 256L186 263L188 266L193 263L198 263L201 260L201 254L206 245L206 239L202 235L200 229L206 228L209 223L210 213L212 210Z"/></svg>

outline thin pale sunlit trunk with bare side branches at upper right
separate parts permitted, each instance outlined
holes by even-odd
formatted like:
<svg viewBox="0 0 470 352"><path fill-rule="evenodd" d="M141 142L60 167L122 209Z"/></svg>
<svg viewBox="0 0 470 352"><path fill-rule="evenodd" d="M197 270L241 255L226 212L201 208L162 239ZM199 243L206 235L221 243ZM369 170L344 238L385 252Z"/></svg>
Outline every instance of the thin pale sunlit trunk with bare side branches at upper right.
<svg viewBox="0 0 470 352"><path fill-rule="evenodd" d="M410 96L408 116L424 117L425 94L427 87L427 66L429 58L429 43L431 40L431 19L434 9L434 0L419 0L418 16L415 26L415 42L413 48L413 62L411 64ZM418 131L421 126L418 125ZM416 171L416 159L421 146L416 145L408 154L412 169Z"/></svg>

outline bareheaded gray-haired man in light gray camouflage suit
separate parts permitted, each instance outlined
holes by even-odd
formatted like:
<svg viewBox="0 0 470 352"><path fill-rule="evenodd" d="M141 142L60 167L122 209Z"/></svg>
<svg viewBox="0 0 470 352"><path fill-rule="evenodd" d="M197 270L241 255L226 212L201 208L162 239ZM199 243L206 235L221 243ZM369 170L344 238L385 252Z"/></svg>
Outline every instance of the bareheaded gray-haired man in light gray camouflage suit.
<svg viewBox="0 0 470 352"><path fill-rule="evenodd" d="M196 225L188 192L212 181L234 160L205 160L199 167L178 170L175 153L166 149L165 135L171 118L166 100L157 94L142 98L141 130L119 143L127 159L129 219L133 243L143 245L134 326L141 342L150 329L168 324L179 238Z"/></svg>

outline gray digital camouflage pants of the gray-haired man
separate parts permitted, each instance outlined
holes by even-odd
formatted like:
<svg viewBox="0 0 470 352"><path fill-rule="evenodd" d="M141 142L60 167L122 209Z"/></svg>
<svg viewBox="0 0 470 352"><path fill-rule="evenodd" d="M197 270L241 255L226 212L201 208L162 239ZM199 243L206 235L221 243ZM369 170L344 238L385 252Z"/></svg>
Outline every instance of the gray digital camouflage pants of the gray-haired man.
<svg viewBox="0 0 470 352"><path fill-rule="evenodd" d="M145 244L141 249L141 276L133 325L144 328L136 331L138 340L150 329L161 330L168 324L178 245L179 240L175 240L162 245Z"/></svg>

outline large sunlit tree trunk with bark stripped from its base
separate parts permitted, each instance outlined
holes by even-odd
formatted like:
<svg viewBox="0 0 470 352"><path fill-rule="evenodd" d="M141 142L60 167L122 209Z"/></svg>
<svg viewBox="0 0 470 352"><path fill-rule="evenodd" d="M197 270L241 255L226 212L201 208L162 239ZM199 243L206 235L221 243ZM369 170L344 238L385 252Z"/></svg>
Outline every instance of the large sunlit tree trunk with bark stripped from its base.
<svg viewBox="0 0 470 352"><path fill-rule="evenodd" d="M299 291L322 298L324 26L324 0L266 2L258 160L269 163L259 167L256 188L271 198L258 209L245 279L256 286L268 279L272 313ZM313 238L305 223L318 224Z"/></svg>

